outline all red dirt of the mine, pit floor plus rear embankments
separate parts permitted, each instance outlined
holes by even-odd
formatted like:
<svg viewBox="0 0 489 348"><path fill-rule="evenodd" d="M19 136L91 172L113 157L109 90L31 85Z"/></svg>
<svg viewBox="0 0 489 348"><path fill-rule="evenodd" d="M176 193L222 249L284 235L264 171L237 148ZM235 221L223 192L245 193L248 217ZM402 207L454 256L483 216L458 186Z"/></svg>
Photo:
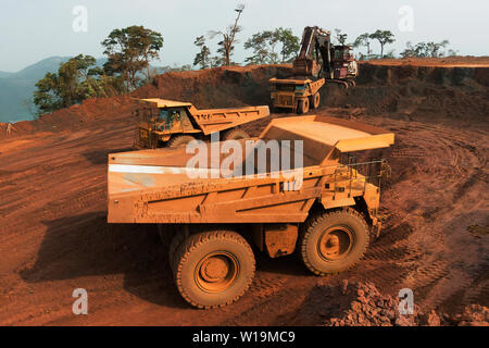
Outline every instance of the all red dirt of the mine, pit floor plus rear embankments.
<svg viewBox="0 0 489 348"><path fill-rule="evenodd" d="M0 125L0 324L321 325L331 318L313 310L317 289L344 279L392 297L411 287L426 313L489 307L488 70L426 65L362 64L358 87L327 86L323 104L335 108L316 112L397 137L385 153L392 166L381 199L388 219L364 260L318 278L294 256L258 254L243 298L209 311L178 295L153 225L105 222L106 156L133 144L129 99L89 100L14 124L9 136ZM266 79L287 70L166 74L135 96L199 108L266 104ZM247 129L256 135L266 123ZM88 315L72 314L75 288L88 290Z"/></svg>

